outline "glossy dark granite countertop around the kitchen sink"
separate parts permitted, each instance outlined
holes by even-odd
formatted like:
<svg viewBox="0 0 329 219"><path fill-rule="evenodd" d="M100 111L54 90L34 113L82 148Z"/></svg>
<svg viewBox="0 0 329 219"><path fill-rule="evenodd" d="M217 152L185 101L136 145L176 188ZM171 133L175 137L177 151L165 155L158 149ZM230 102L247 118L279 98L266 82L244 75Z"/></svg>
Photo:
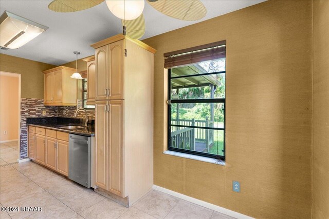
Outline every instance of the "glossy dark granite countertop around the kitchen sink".
<svg viewBox="0 0 329 219"><path fill-rule="evenodd" d="M26 125L32 125L41 128L47 128L70 134L79 134L85 136L95 136L94 120L90 121L87 126L83 123L81 118L68 117L30 117L26 118ZM80 129L66 129L62 126L83 126Z"/></svg>

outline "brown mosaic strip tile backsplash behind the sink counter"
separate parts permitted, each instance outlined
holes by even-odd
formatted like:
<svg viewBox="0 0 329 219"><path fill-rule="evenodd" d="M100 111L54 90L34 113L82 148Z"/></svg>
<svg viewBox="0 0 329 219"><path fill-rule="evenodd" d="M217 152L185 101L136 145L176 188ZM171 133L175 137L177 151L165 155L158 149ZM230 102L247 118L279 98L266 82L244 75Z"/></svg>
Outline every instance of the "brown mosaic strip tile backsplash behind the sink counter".
<svg viewBox="0 0 329 219"><path fill-rule="evenodd" d="M78 108L82 107L82 100L78 100L77 106L45 106L43 99L21 98L21 137L20 137L20 155L21 159L27 158L27 117L74 117ZM42 115L42 111L46 111L46 115ZM95 111L88 110L90 120L95 120ZM84 112L78 113L79 118L84 118Z"/></svg>

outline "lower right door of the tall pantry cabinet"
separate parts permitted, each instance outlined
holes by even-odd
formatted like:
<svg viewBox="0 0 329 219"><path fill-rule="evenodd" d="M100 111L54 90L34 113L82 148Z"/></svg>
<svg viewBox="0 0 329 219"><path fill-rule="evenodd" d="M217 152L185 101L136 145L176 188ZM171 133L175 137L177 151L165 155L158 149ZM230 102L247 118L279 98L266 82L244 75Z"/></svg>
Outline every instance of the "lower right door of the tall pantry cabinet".
<svg viewBox="0 0 329 219"><path fill-rule="evenodd" d="M121 196L123 195L123 101L109 101L107 130L108 191Z"/></svg>

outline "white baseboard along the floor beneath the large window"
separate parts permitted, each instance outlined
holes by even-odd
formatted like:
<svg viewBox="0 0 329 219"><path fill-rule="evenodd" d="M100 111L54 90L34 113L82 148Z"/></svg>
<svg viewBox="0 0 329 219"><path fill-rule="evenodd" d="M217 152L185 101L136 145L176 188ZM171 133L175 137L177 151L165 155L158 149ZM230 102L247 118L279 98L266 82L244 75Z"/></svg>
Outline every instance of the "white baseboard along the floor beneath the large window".
<svg viewBox="0 0 329 219"><path fill-rule="evenodd" d="M169 189L160 187L160 186L153 185L152 186L152 189L158 190L158 191L163 192L163 193L167 193L169 195L178 197L178 198L180 198L182 200L185 200L185 201L188 201L188 202L191 202L191 203L194 203L194 204L203 206L205 208L209 208L211 210L220 212L222 214L229 215L231 217L243 218L243 219L247 219L247 218L248 219L251 219L251 218L253 218L253 217L250 217L250 216L247 216L247 215L244 215L244 214L241 214L241 213L237 213L235 211L232 211L232 210L229 210L229 209L226 209L226 208L217 206L217 205L213 205L213 204L208 203L208 202L205 202L205 201L198 200L198 199L196 199L194 197L190 197L190 196L187 196L187 195L184 195L184 194L180 194L178 192L175 192L175 191L172 191L172 190L169 190Z"/></svg>

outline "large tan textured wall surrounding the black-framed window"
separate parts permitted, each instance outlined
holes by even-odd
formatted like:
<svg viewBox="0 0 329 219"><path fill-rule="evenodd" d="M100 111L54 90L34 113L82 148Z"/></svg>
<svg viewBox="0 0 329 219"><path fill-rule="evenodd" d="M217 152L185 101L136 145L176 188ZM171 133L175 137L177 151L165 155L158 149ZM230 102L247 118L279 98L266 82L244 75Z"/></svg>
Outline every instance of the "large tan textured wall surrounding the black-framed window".
<svg viewBox="0 0 329 219"><path fill-rule="evenodd" d="M163 53L227 41L226 166L167 148ZM154 184L257 218L310 218L312 2L268 1L144 40L154 63ZM232 181L241 193L232 192Z"/></svg>

